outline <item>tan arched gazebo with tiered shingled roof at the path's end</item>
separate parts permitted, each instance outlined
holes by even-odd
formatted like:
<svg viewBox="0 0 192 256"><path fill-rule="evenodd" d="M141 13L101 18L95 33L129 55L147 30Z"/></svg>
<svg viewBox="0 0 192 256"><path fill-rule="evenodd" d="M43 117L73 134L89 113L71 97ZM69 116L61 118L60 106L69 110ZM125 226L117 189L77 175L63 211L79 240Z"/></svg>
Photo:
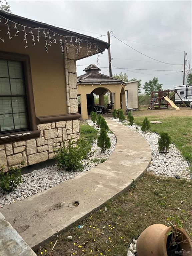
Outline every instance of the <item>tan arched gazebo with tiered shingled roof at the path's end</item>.
<svg viewBox="0 0 192 256"><path fill-rule="evenodd" d="M125 113L125 86L120 80L99 73L101 69L95 64L90 64L84 69L86 74L77 77L78 96L80 96L82 119L88 119L88 114L94 109L94 95L99 96L99 105L104 105L104 95L113 94L113 108L123 109Z"/></svg>

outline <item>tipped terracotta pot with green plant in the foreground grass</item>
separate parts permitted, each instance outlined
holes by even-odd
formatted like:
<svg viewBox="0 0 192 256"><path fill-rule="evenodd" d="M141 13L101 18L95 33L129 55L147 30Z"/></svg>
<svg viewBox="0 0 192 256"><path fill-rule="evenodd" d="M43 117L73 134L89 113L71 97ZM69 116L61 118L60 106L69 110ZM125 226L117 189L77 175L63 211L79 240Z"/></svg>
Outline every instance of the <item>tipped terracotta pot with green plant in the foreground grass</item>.
<svg viewBox="0 0 192 256"><path fill-rule="evenodd" d="M191 255L191 240L183 229L185 220L182 216L173 215L167 218L169 227L154 224L146 228L137 240L137 255Z"/></svg>

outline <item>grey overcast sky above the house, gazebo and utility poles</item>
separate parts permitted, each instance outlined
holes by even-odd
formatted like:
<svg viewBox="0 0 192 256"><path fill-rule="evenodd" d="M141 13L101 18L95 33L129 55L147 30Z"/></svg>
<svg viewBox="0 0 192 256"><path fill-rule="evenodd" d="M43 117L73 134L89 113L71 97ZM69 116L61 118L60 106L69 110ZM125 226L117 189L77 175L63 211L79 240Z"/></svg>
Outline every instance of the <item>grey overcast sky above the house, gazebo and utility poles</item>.
<svg viewBox="0 0 192 256"><path fill-rule="evenodd" d="M191 1L9 0L8 2L14 14L93 37L105 35L100 37L103 41L107 41L107 31L113 31L113 35L122 38L126 44L163 62L183 64L184 51L187 52L187 58L191 59ZM108 51L100 54L99 66L102 67L101 73L109 75L107 57ZM113 74L125 72L129 79L142 79L142 84L157 76L164 89L173 89L174 86L183 83L183 73L176 73L183 70L183 65L156 62L134 51L113 36L111 36L111 57L112 66L121 68L113 69ZM77 65L84 65L84 67L77 66L77 75L83 74L85 66L91 63L97 65L95 56L77 61ZM139 72L134 73L122 68L171 71L132 70Z"/></svg>

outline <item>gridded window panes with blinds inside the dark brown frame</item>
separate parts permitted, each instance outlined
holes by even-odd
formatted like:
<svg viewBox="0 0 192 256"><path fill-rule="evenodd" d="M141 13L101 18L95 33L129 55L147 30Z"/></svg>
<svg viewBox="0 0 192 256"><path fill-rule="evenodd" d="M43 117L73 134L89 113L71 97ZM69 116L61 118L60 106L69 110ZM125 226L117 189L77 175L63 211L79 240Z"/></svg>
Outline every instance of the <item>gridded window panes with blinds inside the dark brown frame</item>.
<svg viewBox="0 0 192 256"><path fill-rule="evenodd" d="M23 63L0 59L0 133L27 128Z"/></svg>

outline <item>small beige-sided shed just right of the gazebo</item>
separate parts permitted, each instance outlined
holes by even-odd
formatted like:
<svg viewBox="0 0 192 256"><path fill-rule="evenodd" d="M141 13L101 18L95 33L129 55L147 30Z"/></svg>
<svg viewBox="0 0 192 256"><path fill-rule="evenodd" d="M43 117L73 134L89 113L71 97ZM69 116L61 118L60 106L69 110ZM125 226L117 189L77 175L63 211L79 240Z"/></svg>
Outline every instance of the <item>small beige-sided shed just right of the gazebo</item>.
<svg viewBox="0 0 192 256"><path fill-rule="evenodd" d="M128 91L128 108L138 108L138 82L127 83L125 90Z"/></svg>

